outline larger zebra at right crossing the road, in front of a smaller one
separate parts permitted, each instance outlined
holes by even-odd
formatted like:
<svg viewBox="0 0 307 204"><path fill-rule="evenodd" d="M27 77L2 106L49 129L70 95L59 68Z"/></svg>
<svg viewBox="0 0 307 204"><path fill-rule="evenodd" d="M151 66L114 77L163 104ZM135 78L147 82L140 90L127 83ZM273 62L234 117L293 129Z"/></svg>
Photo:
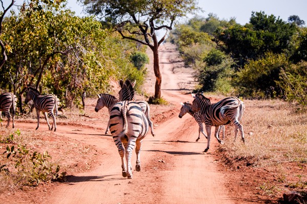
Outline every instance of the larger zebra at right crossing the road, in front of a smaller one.
<svg viewBox="0 0 307 204"><path fill-rule="evenodd" d="M237 97L227 97L218 101L217 103L211 104L210 99L206 98L201 93L197 93L196 95L192 94L192 96L194 98L192 103L192 111L200 111L200 113L205 118L208 143L207 148L204 150L204 152L208 151L209 149L211 126L215 126L214 135L217 141L223 143L223 141L221 141L221 139L216 134L216 132L218 131L217 127L232 122L235 126L234 141L236 140L239 129L242 140L245 143L243 126L239 123L245 111L245 105L242 100Z"/></svg>

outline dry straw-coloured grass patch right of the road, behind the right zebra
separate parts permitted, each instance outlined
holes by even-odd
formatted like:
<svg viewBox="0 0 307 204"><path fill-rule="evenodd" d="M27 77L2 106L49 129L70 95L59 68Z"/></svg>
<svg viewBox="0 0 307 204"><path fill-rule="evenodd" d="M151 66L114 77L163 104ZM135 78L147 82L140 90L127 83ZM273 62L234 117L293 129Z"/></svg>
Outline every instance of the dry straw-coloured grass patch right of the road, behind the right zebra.
<svg viewBox="0 0 307 204"><path fill-rule="evenodd" d="M220 150L233 160L247 160L253 166L286 162L307 163L307 113L280 100L244 100L243 126L246 144L233 143L233 127L226 126L227 139ZM249 134L248 134L249 133Z"/></svg>

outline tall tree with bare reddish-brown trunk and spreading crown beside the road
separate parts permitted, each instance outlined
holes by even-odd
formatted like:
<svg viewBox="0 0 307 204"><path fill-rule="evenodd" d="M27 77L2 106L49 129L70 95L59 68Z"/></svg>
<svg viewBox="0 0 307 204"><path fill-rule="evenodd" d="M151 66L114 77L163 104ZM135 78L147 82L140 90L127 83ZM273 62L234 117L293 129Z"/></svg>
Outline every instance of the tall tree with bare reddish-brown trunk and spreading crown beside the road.
<svg viewBox="0 0 307 204"><path fill-rule="evenodd" d="M147 45L153 52L155 98L161 98L158 48L178 17L197 10L195 0L80 0L86 11L112 23L123 39ZM157 32L164 31L159 40Z"/></svg>

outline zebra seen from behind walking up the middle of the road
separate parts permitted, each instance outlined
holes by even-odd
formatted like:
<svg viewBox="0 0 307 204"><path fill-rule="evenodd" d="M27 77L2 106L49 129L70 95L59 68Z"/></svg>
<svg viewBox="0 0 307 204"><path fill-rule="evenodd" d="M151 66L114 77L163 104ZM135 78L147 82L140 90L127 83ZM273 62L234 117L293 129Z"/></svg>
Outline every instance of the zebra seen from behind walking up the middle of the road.
<svg viewBox="0 0 307 204"><path fill-rule="evenodd" d="M130 85L128 87L133 88ZM148 127L147 117L136 101L120 101L111 109L109 128L122 160L122 175L128 179L133 176L131 156L134 148L137 154L136 170L141 170L141 145Z"/></svg>

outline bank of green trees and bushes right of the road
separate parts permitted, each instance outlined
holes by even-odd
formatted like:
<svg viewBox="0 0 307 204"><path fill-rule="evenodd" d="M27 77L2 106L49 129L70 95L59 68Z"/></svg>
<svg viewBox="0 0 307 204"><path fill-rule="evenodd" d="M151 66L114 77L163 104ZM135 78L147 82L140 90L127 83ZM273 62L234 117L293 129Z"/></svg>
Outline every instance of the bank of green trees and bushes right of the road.
<svg viewBox="0 0 307 204"><path fill-rule="evenodd" d="M252 12L249 23L194 17L170 33L187 66L197 70L196 91L247 98L283 98L307 104L307 28L299 16L283 21Z"/></svg>

